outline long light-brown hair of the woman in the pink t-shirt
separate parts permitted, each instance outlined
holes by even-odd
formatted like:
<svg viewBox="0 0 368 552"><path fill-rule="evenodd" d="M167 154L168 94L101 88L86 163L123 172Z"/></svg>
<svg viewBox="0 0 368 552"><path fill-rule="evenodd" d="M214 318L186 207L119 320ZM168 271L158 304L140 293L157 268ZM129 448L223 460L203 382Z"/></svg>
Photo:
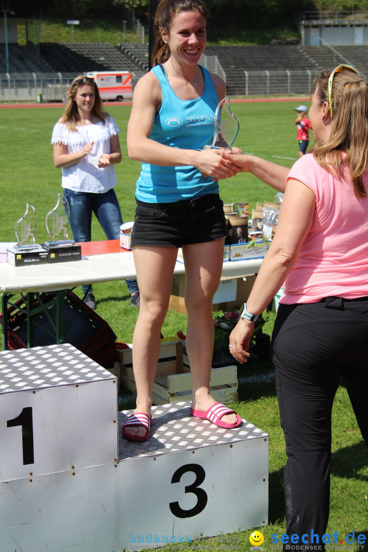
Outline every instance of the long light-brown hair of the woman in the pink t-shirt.
<svg viewBox="0 0 368 552"><path fill-rule="evenodd" d="M327 75L322 71L312 86L316 86L319 105L328 103ZM340 71L334 75L331 97L333 131L326 142L315 144L311 152L322 167L339 178L343 178L343 164L348 163L356 197L366 197L362 173L368 164L367 83L353 71Z"/></svg>

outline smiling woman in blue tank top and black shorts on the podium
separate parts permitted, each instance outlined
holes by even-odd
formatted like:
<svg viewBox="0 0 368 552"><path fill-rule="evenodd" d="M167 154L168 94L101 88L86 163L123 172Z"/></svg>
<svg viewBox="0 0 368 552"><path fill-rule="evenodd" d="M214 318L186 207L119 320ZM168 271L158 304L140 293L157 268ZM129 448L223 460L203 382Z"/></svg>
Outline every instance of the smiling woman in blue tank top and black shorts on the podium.
<svg viewBox="0 0 368 552"><path fill-rule="evenodd" d="M241 418L210 395L214 341L212 298L220 282L226 236L218 179L238 172L220 150L203 151L225 83L198 65L206 45L202 0L161 0L156 12L153 69L138 81L128 124L129 157L142 163L137 181L132 250L141 303L133 337L136 412L122 434L151 435L152 386L178 247L186 270L186 350L192 416L235 428Z"/></svg>

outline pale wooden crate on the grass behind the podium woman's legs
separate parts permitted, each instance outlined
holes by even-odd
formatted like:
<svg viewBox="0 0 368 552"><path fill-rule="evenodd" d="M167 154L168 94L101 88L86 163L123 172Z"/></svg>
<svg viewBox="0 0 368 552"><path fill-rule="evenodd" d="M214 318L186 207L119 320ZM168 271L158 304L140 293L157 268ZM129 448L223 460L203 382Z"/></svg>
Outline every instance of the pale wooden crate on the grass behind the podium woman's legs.
<svg viewBox="0 0 368 552"><path fill-rule="evenodd" d="M130 391L136 391L133 373L132 349L122 349L120 354L120 383ZM238 399L238 379L235 365L211 369L211 395L219 402ZM183 342L163 343L159 355L152 389L154 405L176 404L191 400L191 375L189 359L183 354Z"/></svg>

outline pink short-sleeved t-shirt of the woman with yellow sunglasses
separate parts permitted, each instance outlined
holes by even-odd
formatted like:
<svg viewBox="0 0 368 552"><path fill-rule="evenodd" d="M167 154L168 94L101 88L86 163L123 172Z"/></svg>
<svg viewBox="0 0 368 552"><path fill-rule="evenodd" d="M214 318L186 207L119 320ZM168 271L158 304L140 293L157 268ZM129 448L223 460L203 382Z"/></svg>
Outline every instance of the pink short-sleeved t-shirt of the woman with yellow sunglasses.
<svg viewBox="0 0 368 552"><path fill-rule="evenodd" d="M350 181L339 181L312 153L294 164L286 182L290 178L312 190L316 208L280 303L368 296L368 197L356 198ZM367 169L363 182L368 190Z"/></svg>

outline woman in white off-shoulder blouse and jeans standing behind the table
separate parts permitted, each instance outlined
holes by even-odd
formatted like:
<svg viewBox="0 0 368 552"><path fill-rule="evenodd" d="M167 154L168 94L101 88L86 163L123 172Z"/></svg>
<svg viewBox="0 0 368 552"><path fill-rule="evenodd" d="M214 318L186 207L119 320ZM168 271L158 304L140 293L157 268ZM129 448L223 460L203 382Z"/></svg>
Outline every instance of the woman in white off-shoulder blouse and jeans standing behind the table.
<svg viewBox="0 0 368 552"><path fill-rule="evenodd" d="M114 192L115 163L121 161L119 128L103 109L92 78L74 78L64 113L52 132L54 163L62 169L61 185L70 208L70 225L76 242L91 240L92 213L108 240L119 238L121 211ZM139 306L136 280L126 280L131 303ZM95 308L92 288L83 286L84 301Z"/></svg>

